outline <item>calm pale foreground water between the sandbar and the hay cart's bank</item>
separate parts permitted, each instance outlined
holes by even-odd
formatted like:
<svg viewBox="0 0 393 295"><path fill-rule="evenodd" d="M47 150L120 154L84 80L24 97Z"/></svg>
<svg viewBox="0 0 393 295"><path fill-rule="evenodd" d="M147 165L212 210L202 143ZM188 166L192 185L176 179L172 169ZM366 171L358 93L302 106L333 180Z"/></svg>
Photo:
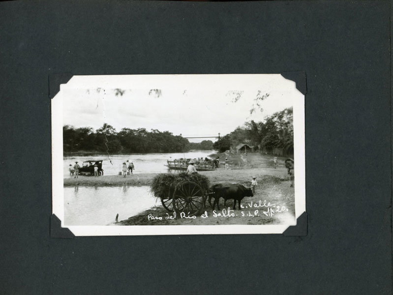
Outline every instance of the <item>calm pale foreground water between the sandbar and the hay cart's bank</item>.
<svg viewBox="0 0 393 295"><path fill-rule="evenodd" d="M116 214L119 220L127 219L156 205L149 189L128 185L64 187L64 225L108 225L116 221Z"/></svg>

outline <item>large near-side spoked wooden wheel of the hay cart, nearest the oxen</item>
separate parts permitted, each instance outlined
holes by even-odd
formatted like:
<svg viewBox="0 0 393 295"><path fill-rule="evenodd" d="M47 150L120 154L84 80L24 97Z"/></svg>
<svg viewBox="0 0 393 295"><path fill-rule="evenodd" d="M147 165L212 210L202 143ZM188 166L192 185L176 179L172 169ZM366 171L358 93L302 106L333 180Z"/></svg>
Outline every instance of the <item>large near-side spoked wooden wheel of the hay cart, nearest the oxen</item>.
<svg viewBox="0 0 393 295"><path fill-rule="evenodd" d="M173 193L173 208L177 213L186 216L200 213L205 207L205 191L195 182L184 182Z"/></svg>

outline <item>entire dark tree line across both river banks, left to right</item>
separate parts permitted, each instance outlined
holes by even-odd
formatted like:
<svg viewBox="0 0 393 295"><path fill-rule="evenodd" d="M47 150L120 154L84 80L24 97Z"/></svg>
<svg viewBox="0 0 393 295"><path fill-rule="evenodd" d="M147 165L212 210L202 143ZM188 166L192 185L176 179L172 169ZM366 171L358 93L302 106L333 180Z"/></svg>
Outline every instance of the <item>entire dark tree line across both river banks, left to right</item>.
<svg viewBox="0 0 393 295"><path fill-rule="evenodd" d="M188 139L173 135L172 132L157 129L122 128L117 132L107 123L95 131L91 127L63 126L64 152L168 153L190 149L216 149L223 152L239 144L248 144L269 153L274 148L282 148L284 153L293 154L293 108L274 113L264 121L246 121L214 143L210 140L190 143Z"/></svg>

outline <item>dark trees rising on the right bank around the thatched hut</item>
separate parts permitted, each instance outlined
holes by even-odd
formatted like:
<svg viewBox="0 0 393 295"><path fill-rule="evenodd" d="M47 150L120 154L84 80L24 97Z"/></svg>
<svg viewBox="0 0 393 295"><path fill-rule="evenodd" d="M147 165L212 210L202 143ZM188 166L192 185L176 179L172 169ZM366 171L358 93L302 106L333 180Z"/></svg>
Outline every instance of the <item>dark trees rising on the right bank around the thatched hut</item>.
<svg viewBox="0 0 393 295"><path fill-rule="evenodd" d="M293 154L293 108L274 113L264 121L245 122L216 141L213 148L223 152L239 144L248 144L266 152L282 148L284 153Z"/></svg>

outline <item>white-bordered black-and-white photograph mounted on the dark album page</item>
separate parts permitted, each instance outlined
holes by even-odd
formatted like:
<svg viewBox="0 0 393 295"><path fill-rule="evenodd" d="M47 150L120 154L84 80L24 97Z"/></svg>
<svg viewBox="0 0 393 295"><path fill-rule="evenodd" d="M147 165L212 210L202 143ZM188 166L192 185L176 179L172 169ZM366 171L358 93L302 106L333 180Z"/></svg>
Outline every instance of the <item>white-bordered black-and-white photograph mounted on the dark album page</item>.
<svg viewBox="0 0 393 295"><path fill-rule="evenodd" d="M282 234L304 162L280 74L73 76L52 99L53 213L75 236Z"/></svg>

